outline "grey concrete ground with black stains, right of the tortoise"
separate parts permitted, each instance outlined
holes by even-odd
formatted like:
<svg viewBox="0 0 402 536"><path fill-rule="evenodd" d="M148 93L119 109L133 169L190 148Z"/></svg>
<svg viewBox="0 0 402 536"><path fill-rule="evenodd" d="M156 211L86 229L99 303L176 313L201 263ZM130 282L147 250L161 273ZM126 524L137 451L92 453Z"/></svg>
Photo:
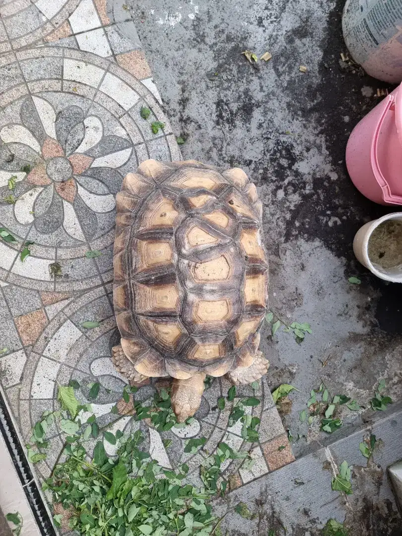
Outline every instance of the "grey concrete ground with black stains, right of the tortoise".
<svg viewBox="0 0 402 536"><path fill-rule="evenodd" d="M291 383L286 425L297 456L334 441L309 431L299 413L324 382L369 406L380 378L402 397L402 288L371 275L353 255L356 231L392 207L369 202L349 179L345 148L354 125L392 86L341 61L343 2L129 0L154 80L183 157L240 166L264 205L270 309L286 323L307 322L299 345L282 328L262 331L271 390ZM195 6L197 5L197 10ZM174 26L158 24L180 13ZM267 62L250 64L242 52ZM307 72L300 71L300 65ZM385 92L384 92L385 94ZM353 285L349 277L361 279ZM323 366L324 363L324 366ZM348 411L341 433L370 421ZM402 455L402 453L401 453Z"/></svg>

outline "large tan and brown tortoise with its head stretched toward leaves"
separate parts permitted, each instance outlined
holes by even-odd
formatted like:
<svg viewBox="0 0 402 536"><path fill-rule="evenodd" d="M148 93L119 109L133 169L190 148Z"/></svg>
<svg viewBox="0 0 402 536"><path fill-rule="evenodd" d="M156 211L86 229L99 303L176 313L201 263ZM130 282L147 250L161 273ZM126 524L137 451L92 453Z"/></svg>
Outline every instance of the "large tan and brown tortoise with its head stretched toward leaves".
<svg viewBox="0 0 402 536"><path fill-rule="evenodd" d="M240 168L142 162L116 196L117 371L131 385L173 377L178 422L198 409L206 375L262 377L267 308L262 203Z"/></svg>

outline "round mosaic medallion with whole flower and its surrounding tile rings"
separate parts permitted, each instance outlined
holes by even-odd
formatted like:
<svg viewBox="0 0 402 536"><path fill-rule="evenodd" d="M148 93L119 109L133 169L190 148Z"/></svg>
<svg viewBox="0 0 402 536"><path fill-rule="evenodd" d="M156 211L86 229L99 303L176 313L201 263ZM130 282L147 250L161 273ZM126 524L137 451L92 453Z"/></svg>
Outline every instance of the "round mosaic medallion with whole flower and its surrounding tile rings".
<svg viewBox="0 0 402 536"><path fill-rule="evenodd" d="M18 70L0 96L0 197L16 199L0 203L0 226L17 239L0 242L0 278L48 291L102 285L113 277L114 196L124 175L147 158L181 158L165 114L107 59L46 47L0 59ZM152 121L165 129L155 135ZM21 262L24 241L34 244ZM86 259L88 250L102 257Z"/></svg>

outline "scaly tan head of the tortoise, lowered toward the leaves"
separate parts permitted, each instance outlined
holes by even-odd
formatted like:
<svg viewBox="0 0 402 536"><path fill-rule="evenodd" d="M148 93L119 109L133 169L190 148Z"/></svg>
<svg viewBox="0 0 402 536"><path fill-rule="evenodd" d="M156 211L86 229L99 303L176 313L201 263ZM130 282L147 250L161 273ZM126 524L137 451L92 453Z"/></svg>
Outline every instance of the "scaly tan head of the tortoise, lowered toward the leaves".
<svg viewBox="0 0 402 536"><path fill-rule="evenodd" d="M188 379L173 379L172 408L178 422L184 422L198 410L204 392L206 374L197 372Z"/></svg>

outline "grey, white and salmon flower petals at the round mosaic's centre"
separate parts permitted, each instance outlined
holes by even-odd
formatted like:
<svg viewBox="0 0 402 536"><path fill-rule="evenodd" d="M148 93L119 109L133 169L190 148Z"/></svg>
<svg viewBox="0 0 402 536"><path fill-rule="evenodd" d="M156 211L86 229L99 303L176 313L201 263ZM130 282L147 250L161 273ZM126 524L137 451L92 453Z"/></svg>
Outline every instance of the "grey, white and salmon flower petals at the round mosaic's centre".
<svg viewBox="0 0 402 536"><path fill-rule="evenodd" d="M128 136L104 137L101 120L91 115L84 118L78 106L63 108L56 117L53 106L38 96L26 99L20 114L23 125L0 130L3 181L8 182L8 172L19 181L21 174L14 173L28 167L14 216L21 225L33 223L45 235L63 226L73 239L83 242L86 237L75 211L75 203L83 202L88 207L87 218L94 220L88 237L92 238L100 223L96 213L110 212L115 201L106 179L100 181L91 173L94 168L115 169L128 161L132 152ZM22 162L27 163L20 166ZM116 182L110 185L113 193Z"/></svg>

